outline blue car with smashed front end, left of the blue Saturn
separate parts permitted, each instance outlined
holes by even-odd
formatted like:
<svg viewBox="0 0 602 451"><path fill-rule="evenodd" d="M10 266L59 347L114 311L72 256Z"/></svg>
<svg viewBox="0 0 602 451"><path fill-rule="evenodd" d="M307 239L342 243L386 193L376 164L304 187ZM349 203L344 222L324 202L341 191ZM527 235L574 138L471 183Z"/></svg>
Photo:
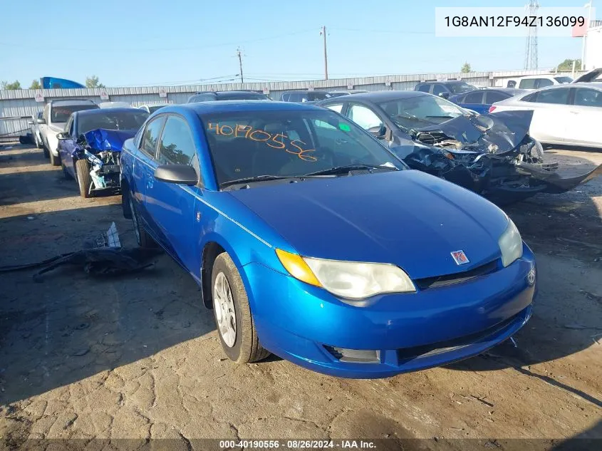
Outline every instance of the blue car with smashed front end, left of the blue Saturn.
<svg viewBox="0 0 602 451"><path fill-rule="evenodd" d="M118 194L123 142L136 134L148 118L136 108L77 111L58 133L63 174L78 182L81 197L99 192Z"/></svg>

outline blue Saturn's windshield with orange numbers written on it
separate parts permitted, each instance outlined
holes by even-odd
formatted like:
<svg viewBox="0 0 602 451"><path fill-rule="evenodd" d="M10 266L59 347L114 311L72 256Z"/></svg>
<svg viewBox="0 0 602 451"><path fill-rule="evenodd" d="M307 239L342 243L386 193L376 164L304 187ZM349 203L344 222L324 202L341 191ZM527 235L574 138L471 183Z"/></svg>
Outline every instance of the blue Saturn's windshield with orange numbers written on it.
<svg viewBox="0 0 602 451"><path fill-rule="evenodd" d="M241 111L202 115L201 120L220 186L347 165L405 167L358 125L330 110Z"/></svg>

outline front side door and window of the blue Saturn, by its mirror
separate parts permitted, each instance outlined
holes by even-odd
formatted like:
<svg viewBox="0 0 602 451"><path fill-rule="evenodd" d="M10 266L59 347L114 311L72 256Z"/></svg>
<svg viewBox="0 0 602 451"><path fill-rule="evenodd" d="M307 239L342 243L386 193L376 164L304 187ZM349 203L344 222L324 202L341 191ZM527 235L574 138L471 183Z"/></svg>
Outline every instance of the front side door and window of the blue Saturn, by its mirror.
<svg viewBox="0 0 602 451"><path fill-rule="evenodd" d="M152 165L190 165L200 176L197 149L190 125L179 115L168 115L159 139L157 158ZM192 230L197 222L194 204L196 187L155 180L147 184L147 211L152 218L167 252L192 271L197 261Z"/></svg>

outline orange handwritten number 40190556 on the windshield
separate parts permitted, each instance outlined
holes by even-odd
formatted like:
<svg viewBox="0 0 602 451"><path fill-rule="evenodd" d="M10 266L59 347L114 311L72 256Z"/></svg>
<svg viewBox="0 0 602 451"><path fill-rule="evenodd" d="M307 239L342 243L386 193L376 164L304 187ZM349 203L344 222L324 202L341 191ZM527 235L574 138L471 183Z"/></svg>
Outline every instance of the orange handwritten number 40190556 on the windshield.
<svg viewBox="0 0 602 451"><path fill-rule="evenodd" d="M291 140L285 133L271 134L259 128L252 128L251 125L235 124L219 125L219 123L209 123L207 131L213 132L216 135L232 136L233 138L244 138L255 142L264 142L273 149L280 149L292 153L303 161L316 162L318 159L313 155L308 155L309 152L316 152L315 149L306 149L306 142L301 140ZM289 145L285 140L289 141Z"/></svg>

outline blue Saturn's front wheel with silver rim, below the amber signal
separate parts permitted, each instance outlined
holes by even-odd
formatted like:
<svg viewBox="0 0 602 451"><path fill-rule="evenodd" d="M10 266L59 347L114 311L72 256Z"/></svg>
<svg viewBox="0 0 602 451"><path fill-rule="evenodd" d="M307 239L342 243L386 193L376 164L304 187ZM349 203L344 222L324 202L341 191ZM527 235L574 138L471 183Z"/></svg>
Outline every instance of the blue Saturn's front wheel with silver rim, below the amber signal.
<svg viewBox="0 0 602 451"><path fill-rule="evenodd" d="M270 352L259 343L249 298L227 252L214 261L211 289L217 335L228 358L236 363L251 363L269 356Z"/></svg>

